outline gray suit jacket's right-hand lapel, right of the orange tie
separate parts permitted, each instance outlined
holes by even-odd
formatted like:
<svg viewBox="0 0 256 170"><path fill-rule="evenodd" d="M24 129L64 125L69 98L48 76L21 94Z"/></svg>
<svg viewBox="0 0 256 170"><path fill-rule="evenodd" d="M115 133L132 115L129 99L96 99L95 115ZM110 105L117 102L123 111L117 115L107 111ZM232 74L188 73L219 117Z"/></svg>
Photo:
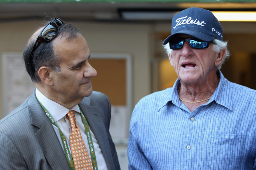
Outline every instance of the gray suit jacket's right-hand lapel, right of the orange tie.
<svg viewBox="0 0 256 170"><path fill-rule="evenodd" d="M104 125L104 117L102 117L103 113L101 113L100 109L98 109L98 107L96 106L88 106L84 104L79 106L86 117L90 129L96 137L108 169L111 169L114 162L112 159L110 144L108 141L108 132L106 131L106 127Z"/></svg>

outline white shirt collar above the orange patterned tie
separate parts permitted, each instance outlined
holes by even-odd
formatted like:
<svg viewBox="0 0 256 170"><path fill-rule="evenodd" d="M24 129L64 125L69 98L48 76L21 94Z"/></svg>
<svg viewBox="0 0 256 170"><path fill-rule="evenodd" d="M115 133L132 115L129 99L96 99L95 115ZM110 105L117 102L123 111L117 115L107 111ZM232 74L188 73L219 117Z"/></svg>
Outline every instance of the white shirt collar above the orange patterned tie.
<svg viewBox="0 0 256 170"><path fill-rule="evenodd" d="M52 118L54 119L55 122L57 122L62 117L64 117L70 110L74 110L74 111L80 113L80 109L79 109L78 105L74 106L72 109L68 109L68 108L48 99L37 88L36 88L36 98L47 109L47 111L52 115Z"/></svg>

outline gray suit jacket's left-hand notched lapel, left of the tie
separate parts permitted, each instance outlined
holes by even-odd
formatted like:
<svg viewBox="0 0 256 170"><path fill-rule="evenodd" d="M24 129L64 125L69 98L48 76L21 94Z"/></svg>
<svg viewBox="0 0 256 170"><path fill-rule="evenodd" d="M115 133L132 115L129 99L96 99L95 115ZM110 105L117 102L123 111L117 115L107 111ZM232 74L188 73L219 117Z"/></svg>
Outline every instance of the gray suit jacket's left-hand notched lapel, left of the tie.
<svg viewBox="0 0 256 170"><path fill-rule="evenodd" d="M36 99L35 91L30 96L28 107L31 114L31 124L39 128L35 133L35 137L51 168L56 170L69 170L70 168L62 146L60 145L50 120Z"/></svg>

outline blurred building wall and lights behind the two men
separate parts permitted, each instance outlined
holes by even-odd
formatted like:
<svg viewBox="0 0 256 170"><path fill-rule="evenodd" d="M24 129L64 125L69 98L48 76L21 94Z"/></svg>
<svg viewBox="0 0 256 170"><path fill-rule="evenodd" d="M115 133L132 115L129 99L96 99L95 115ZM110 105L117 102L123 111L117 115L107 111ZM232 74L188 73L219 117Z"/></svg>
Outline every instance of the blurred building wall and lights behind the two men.
<svg viewBox="0 0 256 170"><path fill-rule="evenodd" d="M255 0L0 0L0 119L34 90L22 51L42 20L58 16L77 25L88 42L89 62L98 72L92 85L110 98L110 131L122 170L128 169L132 109L140 98L174 84L162 41L172 17L189 7L216 12L232 53L222 73L256 89Z"/></svg>

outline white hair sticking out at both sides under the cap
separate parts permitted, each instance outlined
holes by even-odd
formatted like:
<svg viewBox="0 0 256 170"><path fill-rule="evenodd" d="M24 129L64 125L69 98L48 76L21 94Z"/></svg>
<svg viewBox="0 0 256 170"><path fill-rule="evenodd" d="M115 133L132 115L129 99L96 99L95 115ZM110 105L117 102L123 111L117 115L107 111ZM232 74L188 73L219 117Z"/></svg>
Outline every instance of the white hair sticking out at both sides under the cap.
<svg viewBox="0 0 256 170"><path fill-rule="evenodd" d="M220 41L218 39L213 40L213 51L215 51L216 53L220 53L221 50L226 49L226 54L222 63L220 63L220 65L217 66L218 70L220 70L222 64L225 63L230 57L230 51L228 50L227 46L228 46L228 42L226 41ZM172 49L170 49L169 43L167 43L166 45L163 45L163 47L167 54L170 54L170 55L172 54Z"/></svg>

